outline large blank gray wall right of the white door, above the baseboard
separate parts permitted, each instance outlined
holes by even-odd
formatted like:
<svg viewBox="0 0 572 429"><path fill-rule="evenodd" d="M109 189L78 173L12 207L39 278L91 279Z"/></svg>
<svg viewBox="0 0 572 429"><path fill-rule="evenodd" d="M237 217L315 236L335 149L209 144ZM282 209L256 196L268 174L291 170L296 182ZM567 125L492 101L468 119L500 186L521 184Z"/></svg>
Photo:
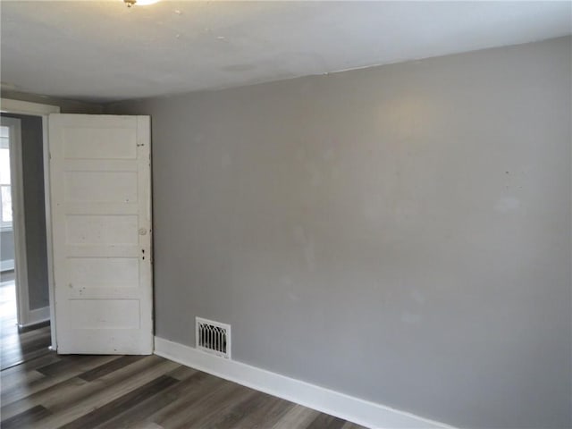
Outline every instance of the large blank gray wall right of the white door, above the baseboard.
<svg viewBox="0 0 572 429"><path fill-rule="evenodd" d="M571 425L570 38L151 114L156 334L464 427Z"/></svg>

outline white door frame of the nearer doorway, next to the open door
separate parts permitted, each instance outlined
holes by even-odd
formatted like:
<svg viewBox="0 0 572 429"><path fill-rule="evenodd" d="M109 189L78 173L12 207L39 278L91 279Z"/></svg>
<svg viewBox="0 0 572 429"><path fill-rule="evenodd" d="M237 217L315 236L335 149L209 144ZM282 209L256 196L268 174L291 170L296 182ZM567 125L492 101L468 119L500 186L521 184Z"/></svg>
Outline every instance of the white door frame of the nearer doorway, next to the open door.
<svg viewBox="0 0 572 429"><path fill-rule="evenodd" d="M44 205L46 207L46 256L47 256L47 282L49 290L49 309L50 309L50 329L52 335L52 345L51 349L57 349L57 341L55 335L55 290L54 290L54 250L52 247L52 210L51 210L51 198L50 198L50 152L49 152L49 140L47 137L48 130L48 116L49 114L59 114L60 106L58 105L42 105L39 103L30 103L28 101L13 100L9 98L0 98L0 112L6 114L25 114L29 116L39 116L42 118L42 135L43 135L43 156L44 156ZM23 195L21 196L23 197ZM21 202L23 206L23 201ZM14 240L16 236L14 234ZM14 251L20 252L16 253L16 261L21 259L21 253L24 253L25 257L26 243L19 243L18 248ZM25 260L25 259L24 259ZM26 286L27 287L27 286ZM18 288L18 285L17 285ZM25 293L19 294L19 296L28 296L28 290ZM29 303L27 303L26 308L29 308ZM21 317L21 315L19 315ZM20 322L20 321L19 321Z"/></svg>

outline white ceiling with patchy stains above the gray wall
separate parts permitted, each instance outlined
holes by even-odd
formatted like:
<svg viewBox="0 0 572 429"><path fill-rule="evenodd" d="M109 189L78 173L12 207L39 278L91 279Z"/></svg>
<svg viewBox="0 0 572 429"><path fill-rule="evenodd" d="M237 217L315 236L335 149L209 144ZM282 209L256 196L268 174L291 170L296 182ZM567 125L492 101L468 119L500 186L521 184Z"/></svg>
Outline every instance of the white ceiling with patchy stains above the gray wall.
<svg viewBox="0 0 572 429"><path fill-rule="evenodd" d="M564 2L6 1L3 88L98 102L228 88L572 32Z"/></svg>

